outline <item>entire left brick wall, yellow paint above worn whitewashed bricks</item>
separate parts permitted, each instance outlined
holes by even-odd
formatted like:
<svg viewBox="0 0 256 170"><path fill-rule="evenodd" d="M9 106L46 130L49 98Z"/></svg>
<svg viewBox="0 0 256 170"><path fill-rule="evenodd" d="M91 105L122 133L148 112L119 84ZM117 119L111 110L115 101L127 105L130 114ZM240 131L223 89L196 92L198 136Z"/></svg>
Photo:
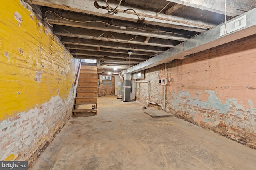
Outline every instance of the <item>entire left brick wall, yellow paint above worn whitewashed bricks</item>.
<svg viewBox="0 0 256 170"><path fill-rule="evenodd" d="M0 5L0 160L31 166L70 118L77 66L27 5Z"/></svg>

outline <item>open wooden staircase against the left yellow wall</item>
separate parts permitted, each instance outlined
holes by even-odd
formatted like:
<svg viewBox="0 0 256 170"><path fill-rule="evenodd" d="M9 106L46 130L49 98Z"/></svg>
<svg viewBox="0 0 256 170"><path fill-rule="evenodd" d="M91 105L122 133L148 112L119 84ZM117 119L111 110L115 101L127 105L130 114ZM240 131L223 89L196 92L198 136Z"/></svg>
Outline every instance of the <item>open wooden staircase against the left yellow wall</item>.
<svg viewBox="0 0 256 170"><path fill-rule="evenodd" d="M81 65L73 116L91 112L97 114L97 66Z"/></svg>

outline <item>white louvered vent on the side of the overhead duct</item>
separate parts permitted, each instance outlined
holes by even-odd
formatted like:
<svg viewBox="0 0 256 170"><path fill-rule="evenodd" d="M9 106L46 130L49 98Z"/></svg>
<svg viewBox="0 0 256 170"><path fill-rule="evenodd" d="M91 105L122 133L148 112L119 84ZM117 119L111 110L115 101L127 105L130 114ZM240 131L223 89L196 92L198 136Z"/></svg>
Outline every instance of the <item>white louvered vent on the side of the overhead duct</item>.
<svg viewBox="0 0 256 170"><path fill-rule="evenodd" d="M225 25L222 25L220 27L220 36L226 35L243 27L246 27L246 15L241 16L234 21L226 23L226 29Z"/></svg>

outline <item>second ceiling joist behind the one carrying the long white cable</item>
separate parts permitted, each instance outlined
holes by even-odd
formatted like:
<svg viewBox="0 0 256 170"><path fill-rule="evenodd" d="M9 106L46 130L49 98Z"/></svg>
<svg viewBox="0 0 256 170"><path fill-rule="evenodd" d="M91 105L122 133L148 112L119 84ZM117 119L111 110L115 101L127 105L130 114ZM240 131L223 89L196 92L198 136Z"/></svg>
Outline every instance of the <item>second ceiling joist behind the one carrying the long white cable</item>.
<svg viewBox="0 0 256 170"><path fill-rule="evenodd" d="M165 47L151 47L146 45L131 45L125 43L109 43L108 41L98 41L98 40L90 40L90 39L82 39L82 38L73 38L73 37L62 37L62 43L64 44L73 44L73 45L85 45L90 47L103 47L109 49L122 49L122 50L130 50L130 51L146 51L152 53L160 53L168 48Z"/></svg>

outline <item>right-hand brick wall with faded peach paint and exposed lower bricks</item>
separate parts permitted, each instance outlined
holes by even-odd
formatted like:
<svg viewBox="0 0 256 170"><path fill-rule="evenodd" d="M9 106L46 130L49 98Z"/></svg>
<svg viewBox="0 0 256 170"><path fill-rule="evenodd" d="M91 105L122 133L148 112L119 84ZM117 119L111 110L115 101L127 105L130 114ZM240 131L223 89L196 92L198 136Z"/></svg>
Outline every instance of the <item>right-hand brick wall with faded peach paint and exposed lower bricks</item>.
<svg viewBox="0 0 256 170"><path fill-rule="evenodd" d="M146 70L152 102L166 111L234 141L256 148L256 35ZM146 84L137 99L146 103ZM160 108L160 106L154 106Z"/></svg>

